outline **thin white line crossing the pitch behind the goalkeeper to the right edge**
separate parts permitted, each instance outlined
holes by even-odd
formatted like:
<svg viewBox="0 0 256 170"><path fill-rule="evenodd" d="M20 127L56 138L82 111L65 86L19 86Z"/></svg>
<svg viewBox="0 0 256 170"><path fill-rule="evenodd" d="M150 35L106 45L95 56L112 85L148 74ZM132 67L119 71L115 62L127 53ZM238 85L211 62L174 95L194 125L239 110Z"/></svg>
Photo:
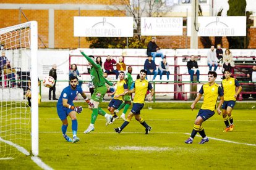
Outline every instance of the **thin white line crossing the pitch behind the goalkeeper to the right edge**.
<svg viewBox="0 0 256 170"><path fill-rule="evenodd" d="M40 133L61 133L61 132L40 132ZM69 133L69 132L67 132ZM122 134L144 134L144 132L122 132ZM83 132L78 132L78 134L83 134ZM93 132L93 134L116 134L116 132ZM150 132L150 134L186 134L186 135L190 135L189 133L182 133L182 132ZM89 134L87 134L89 135ZM197 135L198 136L198 135ZM198 136L200 137L200 136ZM247 143L241 143L241 142L234 142L231 140L225 140L225 139L218 139L215 137L208 137L209 139L213 139L213 140L219 140L222 142L228 142L228 143L233 143L233 144L239 144L239 145L248 145L248 146L254 146L256 147L256 144L247 144Z"/></svg>

